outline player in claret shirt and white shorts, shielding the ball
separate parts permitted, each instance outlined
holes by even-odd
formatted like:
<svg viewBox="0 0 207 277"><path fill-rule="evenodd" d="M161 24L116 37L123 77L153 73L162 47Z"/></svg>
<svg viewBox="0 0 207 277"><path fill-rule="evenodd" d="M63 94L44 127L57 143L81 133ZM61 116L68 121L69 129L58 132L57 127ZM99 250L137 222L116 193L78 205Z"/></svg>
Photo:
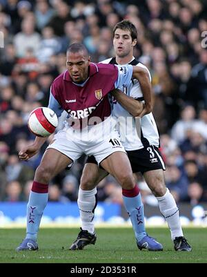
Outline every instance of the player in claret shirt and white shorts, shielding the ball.
<svg viewBox="0 0 207 277"><path fill-rule="evenodd" d="M137 242L144 242L156 251L162 250L162 245L146 233L141 195L128 156L119 140L116 120L111 116L109 97L111 90L128 86L133 76L143 86L146 100L145 107L139 104L137 113L143 110L150 113L152 104L148 73L132 65L90 63L88 51L82 44L69 46L66 65L68 69L52 83L49 108L58 116L63 110L67 111L69 119L46 149L35 172L27 207L26 238L17 251L38 249L37 233L48 202L48 184L83 153L93 155L98 164L121 184L124 204L130 213ZM45 141L46 138L36 137L32 145L21 149L19 158L30 159Z"/></svg>

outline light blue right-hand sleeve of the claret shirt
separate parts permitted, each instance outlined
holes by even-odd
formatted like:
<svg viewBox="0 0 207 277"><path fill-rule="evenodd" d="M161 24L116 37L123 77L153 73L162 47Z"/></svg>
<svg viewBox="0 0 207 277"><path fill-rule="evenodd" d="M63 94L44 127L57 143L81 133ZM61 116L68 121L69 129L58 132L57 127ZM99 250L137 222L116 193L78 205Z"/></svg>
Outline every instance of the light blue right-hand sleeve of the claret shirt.
<svg viewBox="0 0 207 277"><path fill-rule="evenodd" d="M124 66L116 65L118 68L118 78L115 82L115 88L128 86L132 79L133 66L126 64Z"/></svg>

